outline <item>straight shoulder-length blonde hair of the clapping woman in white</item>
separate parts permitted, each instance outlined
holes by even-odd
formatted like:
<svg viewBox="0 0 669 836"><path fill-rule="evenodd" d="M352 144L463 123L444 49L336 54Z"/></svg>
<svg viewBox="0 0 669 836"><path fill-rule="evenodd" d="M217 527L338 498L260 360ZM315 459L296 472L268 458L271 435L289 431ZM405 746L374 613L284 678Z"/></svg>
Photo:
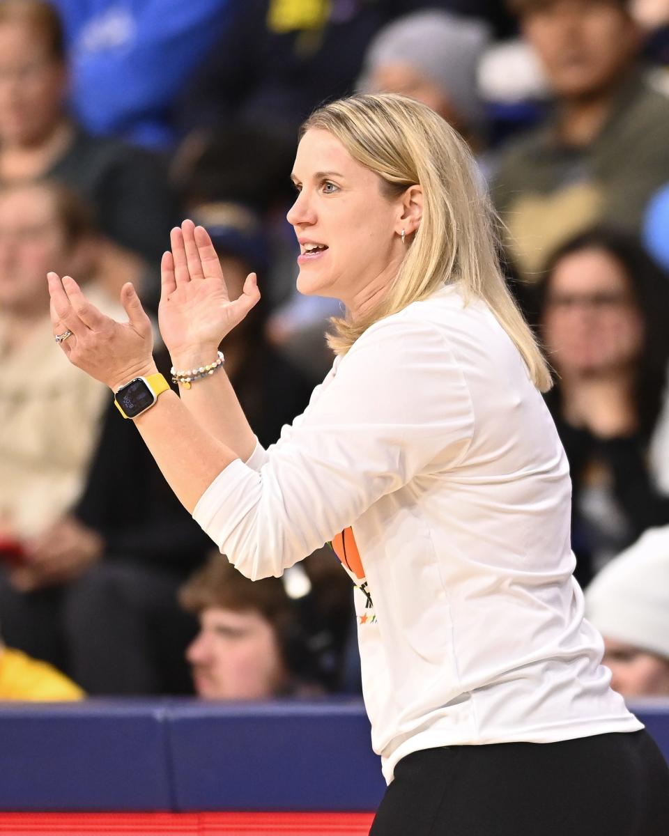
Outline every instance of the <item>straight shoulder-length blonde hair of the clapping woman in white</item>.
<svg viewBox="0 0 669 836"><path fill-rule="evenodd" d="M316 110L304 122L340 140L361 166L380 176L389 196L421 186L421 223L388 293L369 314L332 319L328 341L345 354L371 324L459 283L465 303L481 298L518 348L534 385L552 385L548 364L504 282L495 215L464 140L425 104L396 94L359 94Z"/></svg>

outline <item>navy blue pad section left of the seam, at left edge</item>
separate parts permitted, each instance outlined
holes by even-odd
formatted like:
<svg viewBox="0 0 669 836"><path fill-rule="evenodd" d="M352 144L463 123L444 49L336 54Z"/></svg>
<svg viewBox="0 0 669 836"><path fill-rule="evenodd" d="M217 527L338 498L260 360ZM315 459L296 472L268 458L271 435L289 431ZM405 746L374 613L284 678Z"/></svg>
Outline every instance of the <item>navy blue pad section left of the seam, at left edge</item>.
<svg viewBox="0 0 669 836"><path fill-rule="evenodd" d="M0 703L0 810L169 810L156 702Z"/></svg>

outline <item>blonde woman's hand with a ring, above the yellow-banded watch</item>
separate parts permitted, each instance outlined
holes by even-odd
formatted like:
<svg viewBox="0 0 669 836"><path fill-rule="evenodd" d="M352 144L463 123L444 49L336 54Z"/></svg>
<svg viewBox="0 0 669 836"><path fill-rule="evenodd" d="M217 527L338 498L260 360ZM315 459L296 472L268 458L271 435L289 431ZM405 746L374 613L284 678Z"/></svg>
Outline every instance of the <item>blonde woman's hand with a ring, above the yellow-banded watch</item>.
<svg viewBox="0 0 669 836"><path fill-rule="evenodd" d="M101 314L74 278L64 276L61 281L57 273L49 273L47 279L54 337L71 332L60 342L70 363L114 391L156 371L151 320L130 283L120 292L128 322L119 323Z"/></svg>

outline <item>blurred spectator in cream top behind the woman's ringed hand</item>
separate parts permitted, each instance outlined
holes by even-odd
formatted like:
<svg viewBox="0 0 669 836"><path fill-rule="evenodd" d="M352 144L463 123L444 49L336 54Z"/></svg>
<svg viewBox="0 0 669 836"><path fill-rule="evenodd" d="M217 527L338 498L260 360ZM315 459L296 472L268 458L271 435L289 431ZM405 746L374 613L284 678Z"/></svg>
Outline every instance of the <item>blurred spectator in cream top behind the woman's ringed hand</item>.
<svg viewBox="0 0 669 836"><path fill-rule="evenodd" d="M0 190L0 533L19 544L79 496L108 397L54 345L46 273L94 273L94 231L79 199L54 183ZM122 308L94 283L110 315ZM17 585L33 579L15 569Z"/></svg>

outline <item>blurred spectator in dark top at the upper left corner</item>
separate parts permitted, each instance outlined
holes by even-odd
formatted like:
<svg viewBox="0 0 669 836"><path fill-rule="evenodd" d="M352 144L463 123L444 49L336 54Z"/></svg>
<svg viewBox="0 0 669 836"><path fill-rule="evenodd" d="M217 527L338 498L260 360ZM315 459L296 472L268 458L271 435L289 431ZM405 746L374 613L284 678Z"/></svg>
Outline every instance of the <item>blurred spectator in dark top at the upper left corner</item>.
<svg viewBox="0 0 669 836"><path fill-rule="evenodd" d="M45 0L0 3L0 183L50 178L94 207L105 237L98 270L115 293L158 263L174 211L146 151L88 135L69 119L64 39ZM148 281L148 280L147 280Z"/></svg>

